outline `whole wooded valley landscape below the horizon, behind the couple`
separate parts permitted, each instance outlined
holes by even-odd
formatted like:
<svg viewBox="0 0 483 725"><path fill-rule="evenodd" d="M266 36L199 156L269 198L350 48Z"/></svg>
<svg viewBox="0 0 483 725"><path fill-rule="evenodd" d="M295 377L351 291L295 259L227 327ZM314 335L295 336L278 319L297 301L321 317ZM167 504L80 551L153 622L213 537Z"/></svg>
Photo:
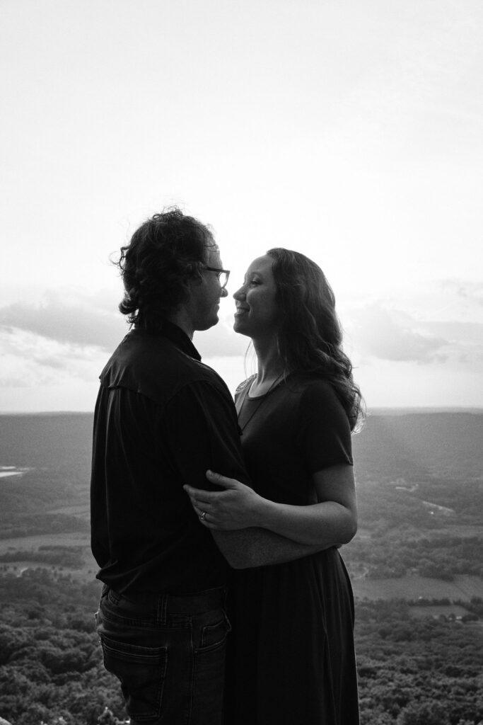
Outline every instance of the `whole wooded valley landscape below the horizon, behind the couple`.
<svg viewBox="0 0 483 725"><path fill-rule="evenodd" d="M0 415L0 718L12 725L125 718L93 629L91 425ZM354 436L360 527L341 553L362 725L483 721L482 439L481 413L385 412Z"/></svg>

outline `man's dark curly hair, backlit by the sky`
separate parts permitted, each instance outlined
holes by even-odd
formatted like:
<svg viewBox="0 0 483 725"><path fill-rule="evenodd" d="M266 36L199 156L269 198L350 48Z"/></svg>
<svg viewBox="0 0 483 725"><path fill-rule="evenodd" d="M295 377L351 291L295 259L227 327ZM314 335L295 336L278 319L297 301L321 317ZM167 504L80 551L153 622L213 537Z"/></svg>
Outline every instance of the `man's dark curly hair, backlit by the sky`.
<svg viewBox="0 0 483 725"><path fill-rule="evenodd" d="M186 299L188 282L201 279L211 246L209 228L177 207L155 214L121 247L116 265L125 294L119 310L135 326L160 329Z"/></svg>

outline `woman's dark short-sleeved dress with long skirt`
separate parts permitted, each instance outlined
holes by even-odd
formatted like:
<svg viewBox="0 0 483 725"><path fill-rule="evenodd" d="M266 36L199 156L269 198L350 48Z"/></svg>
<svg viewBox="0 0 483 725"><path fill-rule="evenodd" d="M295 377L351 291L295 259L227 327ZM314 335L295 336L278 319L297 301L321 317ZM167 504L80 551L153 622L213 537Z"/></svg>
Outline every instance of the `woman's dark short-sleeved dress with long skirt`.
<svg viewBox="0 0 483 725"><path fill-rule="evenodd" d="M293 505L315 502L311 476L352 463L334 389L290 376L250 398L237 393L253 486ZM339 551L235 573L227 725L358 725L353 595Z"/></svg>

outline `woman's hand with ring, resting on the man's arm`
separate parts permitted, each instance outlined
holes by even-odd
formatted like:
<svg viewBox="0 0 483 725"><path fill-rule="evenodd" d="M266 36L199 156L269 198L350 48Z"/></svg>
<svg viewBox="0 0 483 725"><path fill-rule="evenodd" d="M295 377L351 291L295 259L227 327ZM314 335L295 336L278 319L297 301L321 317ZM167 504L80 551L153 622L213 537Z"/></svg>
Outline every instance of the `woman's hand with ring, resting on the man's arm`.
<svg viewBox="0 0 483 725"><path fill-rule="evenodd" d="M183 486L203 526L227 531L261 525L259 519L264 499L250 486L213 471L206 471L206 478L212 484L222 486L224 491L203 491Z"/></svg>

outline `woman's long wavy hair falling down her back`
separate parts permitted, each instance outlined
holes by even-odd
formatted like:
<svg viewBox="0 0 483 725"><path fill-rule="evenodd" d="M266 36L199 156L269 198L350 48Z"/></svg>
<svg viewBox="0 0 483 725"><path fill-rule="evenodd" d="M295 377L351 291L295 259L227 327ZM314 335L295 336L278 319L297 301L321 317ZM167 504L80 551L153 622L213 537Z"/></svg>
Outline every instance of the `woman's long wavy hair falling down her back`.
<svg viewBox="0 0 483 725"><path fill-rule="evenodd" d="M298 371L324 376L334 387L350 422L364 421L364 401L353 381L352 364L343 352L343 334L335 297L321 268L300 252L276 247L272 273L280 310L278 347L285 374Z"/></svg>

